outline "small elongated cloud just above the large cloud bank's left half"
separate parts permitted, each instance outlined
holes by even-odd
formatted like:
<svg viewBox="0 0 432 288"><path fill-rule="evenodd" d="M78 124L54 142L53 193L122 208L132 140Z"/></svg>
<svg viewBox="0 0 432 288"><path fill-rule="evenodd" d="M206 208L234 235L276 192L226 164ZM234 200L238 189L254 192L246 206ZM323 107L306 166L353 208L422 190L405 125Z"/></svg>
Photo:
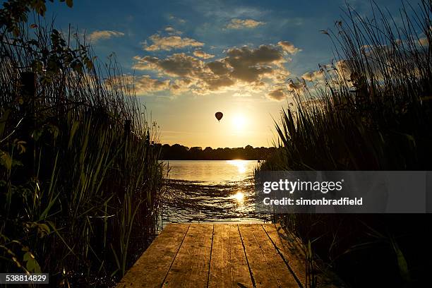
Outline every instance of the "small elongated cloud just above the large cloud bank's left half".
<svg viewBox="0 0 432 288"><path fill-rule="evenodd" d="M176 35L170 36L161 36L158 34L152 35L149 37L152 41L150 46L147 45L147 42L144 42L144 49L147 51L157 51L157 50L166 50L169 51L171 49L181 49L184 47L202 47L204 43L194 40L188 37L180 37Z"/></svg>

